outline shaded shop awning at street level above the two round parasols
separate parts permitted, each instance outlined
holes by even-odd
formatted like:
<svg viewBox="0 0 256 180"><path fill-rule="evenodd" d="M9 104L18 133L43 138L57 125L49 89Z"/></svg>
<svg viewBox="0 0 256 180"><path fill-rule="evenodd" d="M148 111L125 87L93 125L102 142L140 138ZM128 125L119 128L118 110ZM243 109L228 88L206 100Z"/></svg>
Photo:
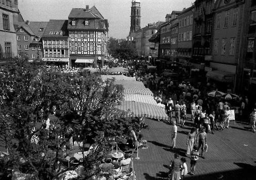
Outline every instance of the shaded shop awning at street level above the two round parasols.
<svg viewBox="0 0 256 180"><path fill-rule="evenodd" d="M207 78L215 79L222 82L232 82L232 76L234 76L234 74L220 70L209 71L206 74Z"/></svg>

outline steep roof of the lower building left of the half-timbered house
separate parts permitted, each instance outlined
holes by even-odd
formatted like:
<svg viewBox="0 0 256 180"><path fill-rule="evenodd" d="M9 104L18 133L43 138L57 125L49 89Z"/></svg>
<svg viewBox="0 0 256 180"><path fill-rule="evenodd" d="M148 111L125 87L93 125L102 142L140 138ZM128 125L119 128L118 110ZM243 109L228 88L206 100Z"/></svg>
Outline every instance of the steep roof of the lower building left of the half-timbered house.
<svg viewBox="0 0 256 180"><path fill-rule="evenodd" d="M50 20L43 33L43 38L68 38L68 20Z"/></svg>

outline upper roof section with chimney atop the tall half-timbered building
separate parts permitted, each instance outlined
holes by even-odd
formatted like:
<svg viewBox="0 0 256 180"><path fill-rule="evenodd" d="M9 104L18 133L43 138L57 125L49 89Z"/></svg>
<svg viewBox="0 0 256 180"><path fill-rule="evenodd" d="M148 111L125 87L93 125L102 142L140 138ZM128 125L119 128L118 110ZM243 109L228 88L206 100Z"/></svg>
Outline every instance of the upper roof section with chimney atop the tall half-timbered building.
<svg viewBox="0 0 256 180"><path fill-rule="evenodd" d="M72 10L69 14L69 19L72 19L72 18L101 19L100 16L94 14L92 11L90 11L90 10L86 11L86 9L83 9L83 8L72 8Z"/></svg>

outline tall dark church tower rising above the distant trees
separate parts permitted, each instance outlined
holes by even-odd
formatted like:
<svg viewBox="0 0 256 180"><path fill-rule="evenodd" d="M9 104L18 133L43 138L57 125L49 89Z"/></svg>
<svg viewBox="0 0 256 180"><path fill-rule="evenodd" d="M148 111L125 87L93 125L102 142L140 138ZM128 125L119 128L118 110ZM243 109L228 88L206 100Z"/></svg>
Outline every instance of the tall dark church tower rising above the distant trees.
<svg viewBox="0 0 256 180"><path fill-rule="evenodd" d="M130 34L140 29L140 0L132 0Z"/></svg>

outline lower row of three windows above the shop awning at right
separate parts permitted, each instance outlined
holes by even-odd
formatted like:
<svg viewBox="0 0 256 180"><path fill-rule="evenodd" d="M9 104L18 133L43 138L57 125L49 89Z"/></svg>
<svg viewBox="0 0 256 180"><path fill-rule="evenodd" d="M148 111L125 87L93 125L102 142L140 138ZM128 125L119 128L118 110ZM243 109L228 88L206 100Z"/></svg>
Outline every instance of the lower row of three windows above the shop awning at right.
<svg viewBox="0 0 256 180"><path fill-rule="evenodd" d="M230 44L229 44L229 55L234 56L234 49L235 49L235 38L230 38ZM218 55L218 49L219 49L219 39L216 39L214 42L214 55ZM221 53L220 55L226 55L226 49L227 49L227 38L224 38L221 40Z"/></svg>

